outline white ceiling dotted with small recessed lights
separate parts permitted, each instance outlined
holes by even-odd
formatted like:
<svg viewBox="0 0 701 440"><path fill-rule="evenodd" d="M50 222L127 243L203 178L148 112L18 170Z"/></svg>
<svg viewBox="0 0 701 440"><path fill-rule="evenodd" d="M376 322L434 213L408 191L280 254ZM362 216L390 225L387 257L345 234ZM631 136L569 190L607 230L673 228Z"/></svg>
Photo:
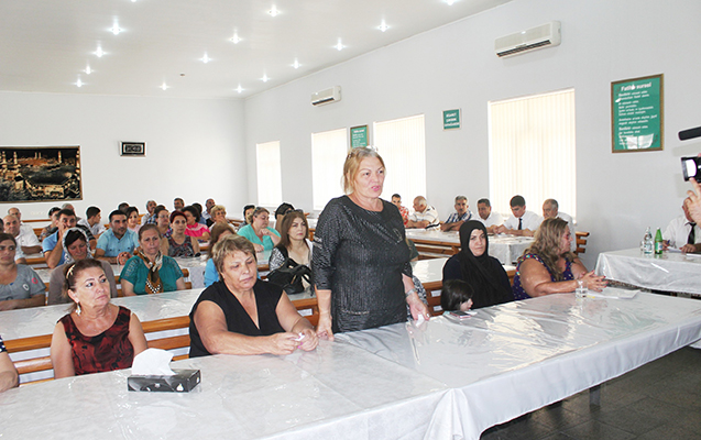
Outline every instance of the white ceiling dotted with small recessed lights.
<svg viewBox="0 0 701 440"><path fill-rule="evenodd" d="M0 90L242 98L507 1L2 0Z"/></svg>

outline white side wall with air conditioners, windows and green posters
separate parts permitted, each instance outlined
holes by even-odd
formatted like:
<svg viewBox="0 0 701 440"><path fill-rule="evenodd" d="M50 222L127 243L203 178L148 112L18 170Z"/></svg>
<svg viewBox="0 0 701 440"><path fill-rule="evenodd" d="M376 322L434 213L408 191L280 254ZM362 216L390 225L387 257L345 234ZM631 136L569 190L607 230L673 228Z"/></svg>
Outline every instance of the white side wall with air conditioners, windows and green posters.
<svg viewBox="0 0 701 440"><path fill-rule="evenodd" d="M689 0L514 0L249 98L249 198L256 196L255 143L281 141L283 197L310 209L311 132L425 113L429 202L447 217L464 194L475 210L489 196L488 102L573 87L578 229L592 233L584 262L593 267L599 252L636 246L647 226L664 228L681 213L679 157L701 152L701 141L677 139L701 125L699 16L701 2ZM559 47L494 55L496 37L551 20L562 23ZM611 81L660 73L665 150L612 154ZM335 85L341 102L309 105L311 92ZM441 112L454 108L463 127L445 132ZM413 196L404 195L405 205ZM541 200L527 202L540 211Z"/></svg>

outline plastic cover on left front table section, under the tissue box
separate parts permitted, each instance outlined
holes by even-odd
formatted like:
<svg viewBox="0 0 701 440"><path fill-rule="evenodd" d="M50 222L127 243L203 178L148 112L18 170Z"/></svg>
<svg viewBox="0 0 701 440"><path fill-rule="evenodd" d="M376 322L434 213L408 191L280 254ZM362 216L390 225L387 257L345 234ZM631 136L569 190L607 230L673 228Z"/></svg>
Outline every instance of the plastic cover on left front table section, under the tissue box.
<svg viewBox="0 0 701 440"><path fill-rule="evenodd" d="M446 386L343 343L288 356L217 355L187 394L127 391L130 370L0 394L0 436L21 439L424 439ZM436 421L436 424L439 424Z"/></svg>

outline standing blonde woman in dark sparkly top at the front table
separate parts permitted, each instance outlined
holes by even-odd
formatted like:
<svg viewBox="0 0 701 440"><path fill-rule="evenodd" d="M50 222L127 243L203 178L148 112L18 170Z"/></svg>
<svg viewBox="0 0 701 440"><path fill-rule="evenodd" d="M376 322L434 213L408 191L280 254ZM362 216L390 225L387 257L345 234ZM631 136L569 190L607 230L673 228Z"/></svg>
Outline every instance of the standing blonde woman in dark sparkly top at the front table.
<svg viewBox="0 0 701 440"><path fill-rule="evenodd" d="M385 167L372 148L353 148L343 164L347 196L330 200L314 235L317 333L429 318L412 280L409 249L397 208L382 200Z"/></svg>

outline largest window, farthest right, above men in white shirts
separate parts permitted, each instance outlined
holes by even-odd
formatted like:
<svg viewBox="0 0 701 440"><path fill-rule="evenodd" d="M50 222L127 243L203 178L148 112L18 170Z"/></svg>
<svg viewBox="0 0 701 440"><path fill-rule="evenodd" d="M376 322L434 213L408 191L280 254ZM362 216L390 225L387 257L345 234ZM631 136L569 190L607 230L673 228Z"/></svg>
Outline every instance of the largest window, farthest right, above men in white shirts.
<svg viewBox="0 0 701 440"><path fill-rule="evenodd" d="M546 199L577 216L574 90L489 103L490 198L499 212L524 196L541 213Z"/></svg>

